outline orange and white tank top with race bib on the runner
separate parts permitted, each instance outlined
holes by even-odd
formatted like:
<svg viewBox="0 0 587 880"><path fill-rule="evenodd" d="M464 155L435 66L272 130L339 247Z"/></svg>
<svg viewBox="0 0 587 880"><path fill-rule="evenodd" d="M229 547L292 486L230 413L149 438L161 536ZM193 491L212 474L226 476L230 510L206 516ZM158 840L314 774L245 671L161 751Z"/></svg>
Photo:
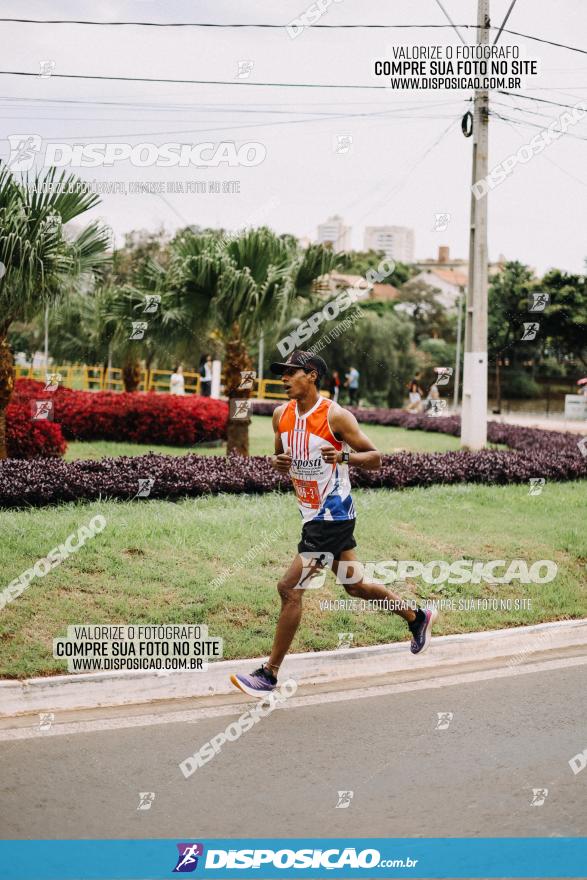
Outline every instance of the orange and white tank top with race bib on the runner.
<svg viewBox="0 0 587 880"><path fill-rule="evenodd" d="M297 401L290 400L279 419L283 449L292 457L289 473L304 522L349 520L356 516L348 465L328 464L322 458L323 446L334 446L339 452L348 452L350 448L330 430L331 406L331 400L320 397L308 412L300 415Z"/></svg>

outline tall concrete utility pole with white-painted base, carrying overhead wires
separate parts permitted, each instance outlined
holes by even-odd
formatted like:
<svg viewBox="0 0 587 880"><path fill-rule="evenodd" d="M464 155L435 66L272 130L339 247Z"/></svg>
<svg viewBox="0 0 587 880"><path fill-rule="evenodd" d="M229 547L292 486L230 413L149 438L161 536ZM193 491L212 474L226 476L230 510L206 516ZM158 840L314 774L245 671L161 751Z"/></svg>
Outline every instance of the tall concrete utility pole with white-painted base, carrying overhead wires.
<svg viewBox="0 0 587 880"><path fill-rule="evenodd" d="M477 44L489 45L489 0L478 0ZM489 67L490 65L488 65ZM489 92L476 91L473 117L473 183L487 176ZM465 313L465 357L461 446L487 442L487 195L471 191L469 284Z"/></svg>

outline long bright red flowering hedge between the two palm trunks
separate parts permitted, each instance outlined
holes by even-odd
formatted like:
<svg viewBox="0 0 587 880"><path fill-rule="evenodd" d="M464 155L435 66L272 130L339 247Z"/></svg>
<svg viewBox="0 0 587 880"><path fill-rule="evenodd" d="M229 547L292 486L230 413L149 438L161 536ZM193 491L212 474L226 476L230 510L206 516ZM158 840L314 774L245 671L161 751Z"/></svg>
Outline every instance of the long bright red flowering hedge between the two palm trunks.
<svg viewBox="0 0 587 880"><path fill-rule="evenodd" d="M54 421L68 440L126 440L193 446L226 437L228 405L209 397L153 392L44 390L42 382L19 379L13 400L28 407L51 399Z"/></svg>

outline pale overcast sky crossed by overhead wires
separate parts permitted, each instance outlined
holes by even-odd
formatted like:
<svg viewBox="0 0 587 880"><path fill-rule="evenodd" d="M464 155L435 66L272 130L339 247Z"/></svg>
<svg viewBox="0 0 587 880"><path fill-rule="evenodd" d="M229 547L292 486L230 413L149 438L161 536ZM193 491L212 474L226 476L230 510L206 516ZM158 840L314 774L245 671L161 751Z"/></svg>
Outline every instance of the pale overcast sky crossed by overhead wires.
<svg viewBox="0 0 587 880"><path fill-rule="evenodd" d="M510 0L492 0L494 25ZM476 23L476 0L443 0L457 24ZM307 8L305 0L187 2L135 0L98 3L5 0L2 16L102 21L287 24ZM438 24L447 20L437 0L333 2L321 24ZM507 24L524 34L587 47L587 3L537 4L517 0ZM463 30L475 42L474 30ZM32 25L0 22L3 71L37 73L42 60L55 73L197 80L228 85L183 85L53 77L0 77L2 141L38 134L72 143L149 142L261 143L266 158L256 167L218 169L82 169L88 180L238 180L236 193L107 195L93 215L122 233L160 225L172 232L185 223L237 229L267 223L278 232L316 236L317 224L341 214L352 227L352 244L363 246L366 225L394 224L415 231L416 257L467 257L471 144L460 119L471 92L359 88L252 86L250 82L368 86L375 58L394 45L459 44L452 28L307 29L291 39L279 29L139 28ZM526 82L525 95L587 106L587 55L502 34L500 45L524 46L538 58L541 74ZM253 62L248 79L237 78L239 61ZM247 83L247 84L242 84ZM499 104L498 104L499 102ZM119 106L117 106L117 104ZM506 106L500 106L506 105ZM490 121L489 166L502 161L538 132L521 125L548 125L563 108L492 95L492 109L516 123ZM360 114L360 115L359 115ZM451 123L452 127L451 127ZM448 129L448 131L447 131ZM534 266L581 272L587 257L587 117L514 173L489 199L489 256L504 254ZM352 144L337 153L339 137ZM448 228L434 230L434 215L449 213Z"/></svg>

